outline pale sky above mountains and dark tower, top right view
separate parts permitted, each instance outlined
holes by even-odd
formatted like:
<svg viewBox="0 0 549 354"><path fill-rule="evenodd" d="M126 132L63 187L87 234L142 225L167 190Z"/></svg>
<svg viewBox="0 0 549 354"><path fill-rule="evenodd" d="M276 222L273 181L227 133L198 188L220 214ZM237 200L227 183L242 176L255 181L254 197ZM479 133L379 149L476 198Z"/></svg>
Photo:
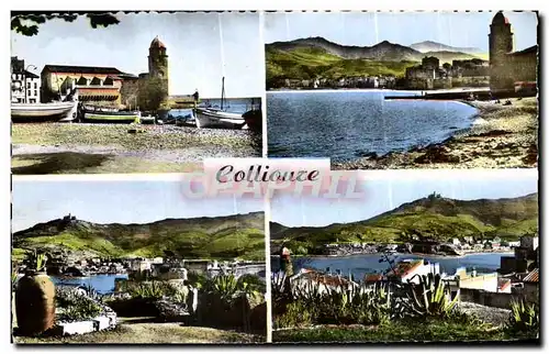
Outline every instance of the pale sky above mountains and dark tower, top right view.
<svg viewBox="0 0 549 354"><path fill-rule="evenodd" d="M266 13L265 43L322 36L344 45L382 41L411 45L434 41L488 53L494 12L317 12ZM504 12L515 33L515 51L537 44L534 12Z"/></svg>

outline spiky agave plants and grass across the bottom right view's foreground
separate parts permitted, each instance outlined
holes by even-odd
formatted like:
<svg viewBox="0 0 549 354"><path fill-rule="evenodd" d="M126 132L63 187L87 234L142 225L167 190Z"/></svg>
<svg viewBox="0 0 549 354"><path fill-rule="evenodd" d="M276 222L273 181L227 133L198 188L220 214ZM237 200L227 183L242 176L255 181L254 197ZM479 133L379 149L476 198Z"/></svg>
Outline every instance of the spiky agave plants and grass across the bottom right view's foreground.
<svg viewBox="0 0 549 354"><path fill-rule="evenodd" d="M294 281L291 284L290 283ZM296 283L299 281L299 283ZM389 289L391 289L389 291ZM273 342L414 342L536 340L539 308L512 303L506 327L458 307L439 275L403 285L325 286L272 279Z"/></svg>

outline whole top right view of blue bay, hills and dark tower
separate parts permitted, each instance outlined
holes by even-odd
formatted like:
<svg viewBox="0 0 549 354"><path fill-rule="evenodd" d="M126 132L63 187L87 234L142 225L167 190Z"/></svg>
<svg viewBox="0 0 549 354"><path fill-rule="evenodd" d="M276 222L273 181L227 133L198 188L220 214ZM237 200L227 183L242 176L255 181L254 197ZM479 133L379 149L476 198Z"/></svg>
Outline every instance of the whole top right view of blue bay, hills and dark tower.
<svg viewBox="0 0 549 354"><path fill-rule="evenodd" d="M538 13L265 13L269 157L536 168Z"/></svg>

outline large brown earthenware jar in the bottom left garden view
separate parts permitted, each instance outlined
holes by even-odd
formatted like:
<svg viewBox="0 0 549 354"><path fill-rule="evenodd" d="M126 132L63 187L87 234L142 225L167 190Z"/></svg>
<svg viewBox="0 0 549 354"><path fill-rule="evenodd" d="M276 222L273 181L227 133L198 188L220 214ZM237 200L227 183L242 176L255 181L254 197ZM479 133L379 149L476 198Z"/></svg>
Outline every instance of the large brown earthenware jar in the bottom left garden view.
<svg viewBox="0 0 549 354"><path fill-rule="evenodd" d="M43 273L29 273L15 291L18 328L22 335L36 335L55 324L55 286Z"/></svg>

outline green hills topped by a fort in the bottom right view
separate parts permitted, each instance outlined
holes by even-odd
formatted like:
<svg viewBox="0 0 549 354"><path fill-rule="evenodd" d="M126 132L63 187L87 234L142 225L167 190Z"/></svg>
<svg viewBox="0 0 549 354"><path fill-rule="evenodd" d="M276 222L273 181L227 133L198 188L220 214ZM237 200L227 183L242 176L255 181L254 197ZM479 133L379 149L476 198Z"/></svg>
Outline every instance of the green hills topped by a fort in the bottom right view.
<svg viewBox="0 0 549 354"><path fill-rule="evenodd" d="M538 195L518 198L457 200L432 195L368 220L320 228L270 223L271 250L282 243L314 253L334 242L400 243L410 235L446 242L452 237L500 236L515 241L538 231ZM306 252L304 252L306 250Z"/></svg>

